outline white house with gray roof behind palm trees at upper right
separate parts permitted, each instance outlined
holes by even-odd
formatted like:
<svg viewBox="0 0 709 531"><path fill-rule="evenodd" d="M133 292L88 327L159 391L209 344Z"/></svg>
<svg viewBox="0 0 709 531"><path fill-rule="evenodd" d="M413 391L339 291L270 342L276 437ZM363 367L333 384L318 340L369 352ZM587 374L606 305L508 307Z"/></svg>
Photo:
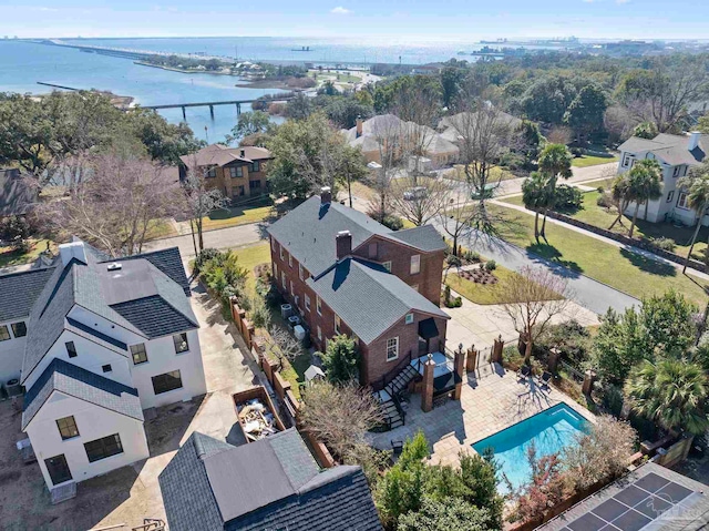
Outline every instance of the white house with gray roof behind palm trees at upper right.
<svg viewBox="0 0 709 531"><path fill-rule="evenodd" d="M620 145L618 173L625 173L636 161L650 159L662 167L662 197L648 205L649 222L679 221L685 225L697 223L697 214L687 204L687 194L677 186L677 181L688 174L689 169L701 164L709 153L709 135L701 133L666 134L660 133L653 140L633 136ZM635 204L626 214L633 214ZM644 215L644 208L639 211ZM701 219L709 225L709 216Z"/></svg>

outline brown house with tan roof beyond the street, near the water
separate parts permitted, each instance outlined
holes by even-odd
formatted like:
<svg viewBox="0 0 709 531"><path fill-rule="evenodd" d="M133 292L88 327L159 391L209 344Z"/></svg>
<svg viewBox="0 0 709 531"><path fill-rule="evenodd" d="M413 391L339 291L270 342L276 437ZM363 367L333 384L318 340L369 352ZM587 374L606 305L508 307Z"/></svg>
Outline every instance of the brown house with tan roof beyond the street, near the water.
<svg viewBox="0 0 709 531"><path fill-rule="evenodd" d="M196 166L208 188L219 190L233 202L243 202L268 193L266 165L271 159L264 147L212 144L179 157L179 180L186 178L188 167Z"/></svg>

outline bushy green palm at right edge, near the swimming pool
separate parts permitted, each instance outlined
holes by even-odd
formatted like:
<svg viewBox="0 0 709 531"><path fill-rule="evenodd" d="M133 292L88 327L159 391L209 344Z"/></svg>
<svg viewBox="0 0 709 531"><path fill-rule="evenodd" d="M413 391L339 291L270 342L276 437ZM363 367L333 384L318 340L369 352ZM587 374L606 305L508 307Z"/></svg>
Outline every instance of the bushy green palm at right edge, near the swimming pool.
<svg viewBox="0 0 709 531"><path fill-rule="evenodd" d="M624 390L634 411L668 431L700 435L709 428L709 378L699 365L645 360L630 371Z"/></svg>

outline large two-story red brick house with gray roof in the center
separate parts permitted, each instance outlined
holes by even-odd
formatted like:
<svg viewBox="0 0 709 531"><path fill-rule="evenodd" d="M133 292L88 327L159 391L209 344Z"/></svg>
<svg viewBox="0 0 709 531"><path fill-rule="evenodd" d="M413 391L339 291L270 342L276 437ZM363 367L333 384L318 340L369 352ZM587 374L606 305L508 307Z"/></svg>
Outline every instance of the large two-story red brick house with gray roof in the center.
<svg viewBox="0 0 709 531"><path fill-rule="evenodd" d="M318 349L338 334L358 340L361 385L381 389L388 375L444 350L445 245L435 228L392 232L323 188L268 232L279 290Z"/></svg>

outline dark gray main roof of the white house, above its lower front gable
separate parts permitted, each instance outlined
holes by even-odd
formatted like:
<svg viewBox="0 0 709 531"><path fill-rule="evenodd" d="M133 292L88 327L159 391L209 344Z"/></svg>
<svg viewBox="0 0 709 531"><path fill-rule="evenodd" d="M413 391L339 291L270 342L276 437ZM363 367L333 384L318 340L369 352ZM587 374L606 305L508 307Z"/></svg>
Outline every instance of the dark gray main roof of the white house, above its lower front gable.
<svg viewBox="0 0 709 531"><path fill-rule="evenodd" d="M142 255L135 255L130 259L120 261L121 269L109 270L111 261L106 262L105 255L88 244L83 247L86 263L73 258L63 266L59 259L51 278L32 307L22 364L22 381L30 376L50 347L59 339L64 330L64 318L74 305L146 338L182 331L175 330L178 323L185 325L183 330L197 326L197 319L192 310L189 298L185 296L183 285L163 273L158 266L153 265L152 261L143 258ZM155 253L150 255L165 266L174 262L174 253L178 258L179 252L176 249L171 249L169 255ZM165 258L166 256L169 258ZM179 259L179 267L182 268L182 259ZM168 269L172 270L172 267ZM176 272L173 272L173 276L177 276ZM182 269L182 276L184 277L184 269ZM145 302L136 303L133 307L129 304L129 309L121 306L148 297L162 299L160 304L151 303L151 307L164 310L165 319L157 319L162 317L160 314L145 315L147 309ZM113 306L116 305L122 312L114 309ZM131 318L123 314L130 315ZM181 317L177 318L176 314L181 314ZM158 326L160 323L163 323L163 328Z"/></svg>

